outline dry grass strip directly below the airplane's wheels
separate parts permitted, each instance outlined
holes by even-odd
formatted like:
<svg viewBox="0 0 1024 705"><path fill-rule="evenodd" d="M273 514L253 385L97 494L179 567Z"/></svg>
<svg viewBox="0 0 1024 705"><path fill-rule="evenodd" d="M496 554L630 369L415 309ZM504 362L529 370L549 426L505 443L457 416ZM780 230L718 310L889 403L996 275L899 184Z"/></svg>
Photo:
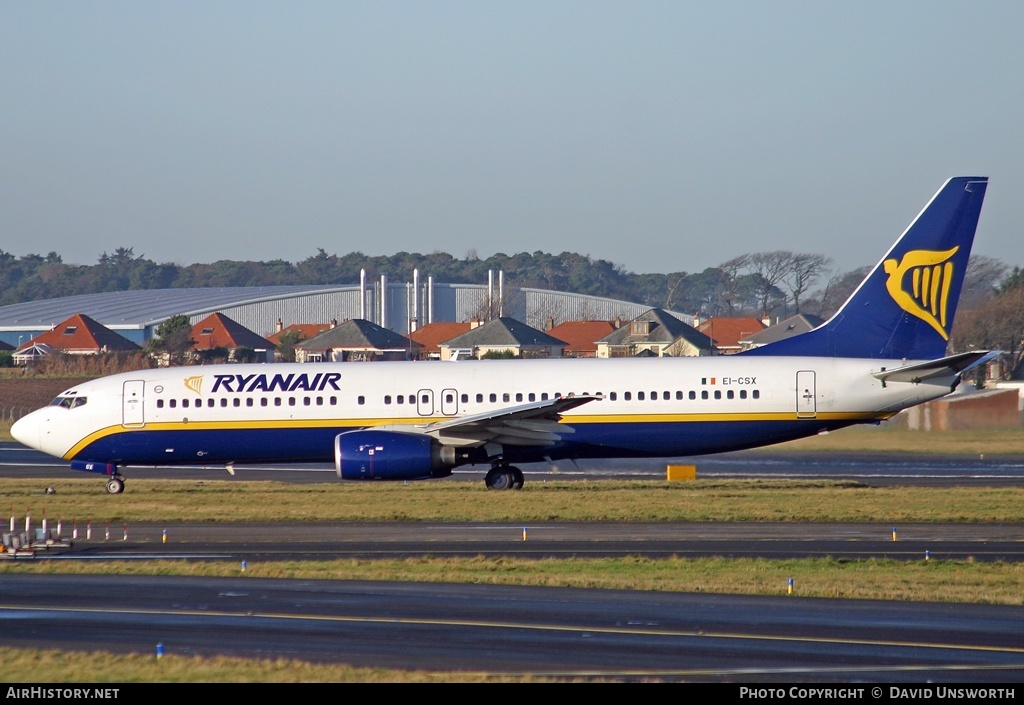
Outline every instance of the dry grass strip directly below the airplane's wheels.
<svg viewBox="0 0 1024 705"><path fill-rule="evenodd" d="M699 470L698 470L699 473ZM53 488L55 494L45 494ZM129 478L0 482L0 516L138 522L1024 522L1022 487L867 487L846 481L317 483Z"/></svg>

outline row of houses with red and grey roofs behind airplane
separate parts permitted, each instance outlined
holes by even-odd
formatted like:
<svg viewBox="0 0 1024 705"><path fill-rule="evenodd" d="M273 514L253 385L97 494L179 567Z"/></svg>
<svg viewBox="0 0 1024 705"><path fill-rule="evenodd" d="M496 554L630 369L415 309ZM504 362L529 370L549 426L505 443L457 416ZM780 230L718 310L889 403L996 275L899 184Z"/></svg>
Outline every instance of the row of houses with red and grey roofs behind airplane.
<svg viewBox="0 0 1024 705"><path fill-rule="evenodd" d="M247 360L275 362L369 362L375 360L462 360L467 358L624 358L730 355L810 330L821 321L798 316L776 326L753 318L711 319L696 326L652 308L629 322L548 320L540 330L513 318L488 322L432 323L408 336L372 321L292 324L279 320L276 331L259 335L223 314L211 314L191 329L193 351L223 351L227 360L246 350ZM294 343L294 344L293 344ZM8 346L10 348L11 346ZM76 314L13 350L26 365L60 351L71 355L130 352L141 349L128 338L84 314Z"/></svg>

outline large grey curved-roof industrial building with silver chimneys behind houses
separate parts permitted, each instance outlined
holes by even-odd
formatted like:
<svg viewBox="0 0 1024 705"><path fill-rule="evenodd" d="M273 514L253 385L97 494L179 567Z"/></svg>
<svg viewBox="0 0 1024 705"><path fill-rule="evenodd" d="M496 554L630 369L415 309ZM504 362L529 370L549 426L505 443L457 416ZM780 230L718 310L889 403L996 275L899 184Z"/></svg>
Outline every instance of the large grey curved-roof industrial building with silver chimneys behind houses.
<svg viewBox="0 0 1024 705"><path fill-rule="evenodd" d="M112 291L42 299L0 306L0 341L20 347L33 337L76 314L143 345L172 316L185 315L195 325L219 313L268 337L281 326L325 324L350 319L373 321L407 335L434 322L464 322L510 317L543 329L580 320L632 320L650 306L547 289L506 287L498 273L488 284L442 284L414 273L412 282L386 276L359 284L148 289ZM691 323L692 316L672 312ZM280 322L280 323L279 323Z"/></svg>

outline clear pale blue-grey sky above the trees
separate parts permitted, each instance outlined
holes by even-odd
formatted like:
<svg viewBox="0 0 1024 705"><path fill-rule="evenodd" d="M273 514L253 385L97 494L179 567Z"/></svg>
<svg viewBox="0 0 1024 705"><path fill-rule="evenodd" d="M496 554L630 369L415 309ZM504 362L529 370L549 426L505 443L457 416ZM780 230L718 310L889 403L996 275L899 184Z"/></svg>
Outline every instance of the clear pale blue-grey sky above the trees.
<svg viewBox="0 0 1024 705"><path fill-rule="evenodd" d="M0 249L1024 266L1024 3L0 0Z"/></svg>

